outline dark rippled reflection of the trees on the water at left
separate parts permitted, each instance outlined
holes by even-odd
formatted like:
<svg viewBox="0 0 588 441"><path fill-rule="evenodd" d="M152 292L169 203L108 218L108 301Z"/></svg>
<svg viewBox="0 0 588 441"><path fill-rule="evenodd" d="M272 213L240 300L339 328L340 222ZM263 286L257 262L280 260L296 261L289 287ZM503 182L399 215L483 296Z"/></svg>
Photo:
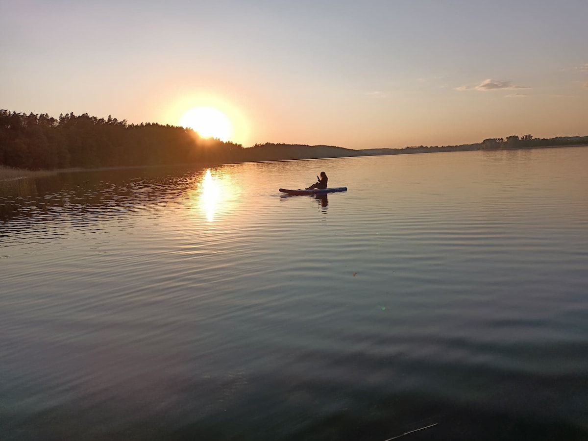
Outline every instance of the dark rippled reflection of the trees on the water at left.
<svg viewBox="0 0 588 441"><path fill-rule="evenodd" d="M138 207L167 205L193 189L202 169L141 168L59 173L38 179L2 182L0 220L15 217L54 220L61 209L83 216L104 210L113 216ZM197 181L197 180L196 180Z"/></svg>

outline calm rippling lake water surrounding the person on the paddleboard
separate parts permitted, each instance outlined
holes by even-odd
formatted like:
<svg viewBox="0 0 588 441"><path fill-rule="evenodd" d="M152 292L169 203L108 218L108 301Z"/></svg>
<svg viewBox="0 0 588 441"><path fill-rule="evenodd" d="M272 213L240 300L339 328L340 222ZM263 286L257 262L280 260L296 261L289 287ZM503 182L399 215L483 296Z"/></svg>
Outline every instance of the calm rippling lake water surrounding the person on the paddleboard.
<svg viewBox="0 0 588 441"><path fill-rule="evenodd" d="M588 439L588 148L0 198L0 439ZM328 198L280 196L320 171Z"/></svg>

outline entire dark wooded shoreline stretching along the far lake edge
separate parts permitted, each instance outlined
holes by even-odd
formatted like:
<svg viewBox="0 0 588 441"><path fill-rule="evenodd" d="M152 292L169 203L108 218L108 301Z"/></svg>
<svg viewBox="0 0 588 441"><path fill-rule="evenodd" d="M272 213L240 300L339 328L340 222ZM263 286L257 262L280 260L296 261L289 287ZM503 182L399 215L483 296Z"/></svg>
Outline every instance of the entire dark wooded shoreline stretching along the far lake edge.
<svg viewBox="0 0 588 441"><path fill-rule="evenodd" d="M74 112L53 118L41 113L0 110L0 165L40 170L167 165L179 163L235 163L343 156L469 150L528 149L588 145L588 136L533 138L511 135L480 143L449 146L409 146L403 149L353 150L336 146L283 143L250 148L219 139L201 138L192 129L158 123L129 124Z"/></svg>

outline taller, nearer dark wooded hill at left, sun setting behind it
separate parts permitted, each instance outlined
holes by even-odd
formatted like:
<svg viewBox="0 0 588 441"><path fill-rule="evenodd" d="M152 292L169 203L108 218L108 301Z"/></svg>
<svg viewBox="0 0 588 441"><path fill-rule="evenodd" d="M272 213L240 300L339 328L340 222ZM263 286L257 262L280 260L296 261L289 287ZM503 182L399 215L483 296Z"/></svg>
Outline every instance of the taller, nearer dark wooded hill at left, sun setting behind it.
<svg viewBox="0 0 588 441"><path fill-rule="evenodd" d="M242 145L201 138L192 129L129 124L75 115L0 110L0 164L26 169L98 168L185 162L228 162Z"/></svg>

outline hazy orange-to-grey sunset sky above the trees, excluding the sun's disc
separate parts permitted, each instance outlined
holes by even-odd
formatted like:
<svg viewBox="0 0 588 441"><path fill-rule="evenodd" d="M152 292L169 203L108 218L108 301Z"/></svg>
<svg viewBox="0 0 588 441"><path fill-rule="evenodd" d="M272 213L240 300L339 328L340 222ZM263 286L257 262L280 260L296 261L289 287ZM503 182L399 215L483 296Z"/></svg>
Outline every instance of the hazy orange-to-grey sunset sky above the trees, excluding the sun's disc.
<svg viewBox="0 0 588 441"><path fill-rule="evenodd" d="M0 0L0 108L346 148L588 135L588 0Z"/></svg>

